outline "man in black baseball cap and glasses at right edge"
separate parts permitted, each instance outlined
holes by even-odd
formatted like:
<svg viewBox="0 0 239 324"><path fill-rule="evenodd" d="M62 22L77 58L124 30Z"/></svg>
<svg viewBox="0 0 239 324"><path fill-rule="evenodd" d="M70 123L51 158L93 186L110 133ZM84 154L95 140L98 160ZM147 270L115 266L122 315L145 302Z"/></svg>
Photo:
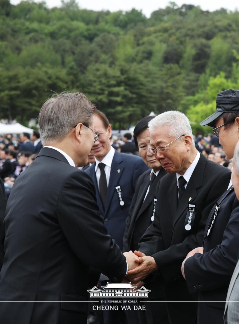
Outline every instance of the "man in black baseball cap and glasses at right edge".
<svg viewBox="0 0 239 324"><path fill-rule="evenodd" d="M239 90L217 95L216 112L200 123L214 127L227 160L233 158L239 135ZM211 210L202 248L191 251L182 263L182 275L191 293L198 292L197 324L223 324L227 290L239 250L239 202L232 183ZM201 254L202 253L202 254Z"/></svg>

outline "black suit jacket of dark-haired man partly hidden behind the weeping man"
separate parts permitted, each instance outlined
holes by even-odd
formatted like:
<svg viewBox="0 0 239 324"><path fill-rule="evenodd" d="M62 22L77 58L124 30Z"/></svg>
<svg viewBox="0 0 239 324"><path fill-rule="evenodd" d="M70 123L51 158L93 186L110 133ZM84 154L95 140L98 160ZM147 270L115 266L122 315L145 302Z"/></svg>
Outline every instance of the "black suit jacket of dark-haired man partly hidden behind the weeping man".
<svg viewBox="0 0 239 324"><path fill-rule="evenodd" d="M161 168L154 182L151 184L150 191L145 198L145 194L150 182L150 173L151 169L145 171L145 173L139 177L136 183L135 193L133 195L129 214L126 219L126 227L123 238L123 252L138 250L140 238L143 236L148 226L152 223L151 218L154 209L154 198L157 198L156 187L158 181L165 174L167 174L167 172Z"/></svg>

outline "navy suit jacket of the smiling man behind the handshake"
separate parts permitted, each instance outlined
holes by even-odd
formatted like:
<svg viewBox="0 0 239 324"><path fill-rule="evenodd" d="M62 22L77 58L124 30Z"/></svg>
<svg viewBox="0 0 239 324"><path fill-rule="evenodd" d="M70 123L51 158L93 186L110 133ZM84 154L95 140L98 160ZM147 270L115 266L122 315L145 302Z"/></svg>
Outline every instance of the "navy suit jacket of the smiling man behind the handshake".
<svg viewBox="0 0 239 324"><path fill-rule="evenodd" d="M85 170L93 179L100 215L104 219L107 231L115 239L120 249L123 248L125 221L132 203L136 182L146 170L148 170L148 167L141 157L115 151L110 169L106 209L104 209L100 199L95 163ZM115 186L121 188L123 206L119 204L119 195Z"/></svg>

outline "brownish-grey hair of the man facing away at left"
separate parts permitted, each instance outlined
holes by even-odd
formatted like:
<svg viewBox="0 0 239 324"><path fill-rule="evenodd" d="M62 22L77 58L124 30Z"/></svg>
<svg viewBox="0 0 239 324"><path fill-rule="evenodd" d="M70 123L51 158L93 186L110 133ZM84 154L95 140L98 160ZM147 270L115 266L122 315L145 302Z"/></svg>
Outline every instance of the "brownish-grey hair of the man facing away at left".
<svg viewBox="0 0 239 324"><path fill-rule="evenodd" d="M38 119L42 144L62 140L79 122L93 123L95 106L81 92L62 92L46 100Z"/></svg>

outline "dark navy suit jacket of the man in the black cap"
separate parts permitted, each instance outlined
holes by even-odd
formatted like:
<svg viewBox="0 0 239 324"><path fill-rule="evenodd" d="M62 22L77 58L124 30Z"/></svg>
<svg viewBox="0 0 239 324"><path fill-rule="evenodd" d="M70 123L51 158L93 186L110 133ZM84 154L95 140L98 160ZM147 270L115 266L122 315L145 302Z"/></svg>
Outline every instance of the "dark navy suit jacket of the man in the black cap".
<svg viewBox="0 0 239 324"><path fill-rule="evenodd" d="M196 253L184 264L184 273L190 292L198 291L197 323L209 323L208 312L215 323L223 323L223 313L230 280L238 260L239 249L239 202L233 188L221 201L212 224L215 206L209 214L204 233L203 254Z"/></svg>

